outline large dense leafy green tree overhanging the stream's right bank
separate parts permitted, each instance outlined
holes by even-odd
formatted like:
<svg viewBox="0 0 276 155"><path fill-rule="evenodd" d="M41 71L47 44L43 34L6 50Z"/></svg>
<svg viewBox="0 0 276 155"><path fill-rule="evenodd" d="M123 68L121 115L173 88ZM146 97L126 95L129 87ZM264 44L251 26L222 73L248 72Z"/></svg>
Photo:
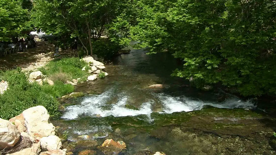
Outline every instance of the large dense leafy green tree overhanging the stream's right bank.
<svg viewBox="0 0 276 155"><path fill-rule="evenodd" d="M276 94L276 3L271 0L139 0L131 28L139 48L168 48L184 61L172 75Z"/></svg>

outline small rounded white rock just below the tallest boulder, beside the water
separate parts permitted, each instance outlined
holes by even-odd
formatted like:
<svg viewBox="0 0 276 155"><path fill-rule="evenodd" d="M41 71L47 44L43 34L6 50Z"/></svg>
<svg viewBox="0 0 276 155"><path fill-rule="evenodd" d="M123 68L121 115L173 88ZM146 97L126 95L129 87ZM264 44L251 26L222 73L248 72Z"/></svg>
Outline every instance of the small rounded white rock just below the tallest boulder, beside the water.
<svg viewBox="0 0 276 155"><path fill-rule="evenodd" d="M51 151L54 149L60 149L62 144L59 137L56 135L50 135L48 137L42 137L40 139L41 150Z"/></svg>

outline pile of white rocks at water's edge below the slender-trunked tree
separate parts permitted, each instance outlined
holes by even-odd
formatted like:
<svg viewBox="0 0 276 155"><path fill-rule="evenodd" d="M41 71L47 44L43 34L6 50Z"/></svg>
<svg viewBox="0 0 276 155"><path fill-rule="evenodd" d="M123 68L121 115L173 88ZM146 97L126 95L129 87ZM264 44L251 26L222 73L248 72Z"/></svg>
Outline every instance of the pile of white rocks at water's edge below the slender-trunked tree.
<svg viewBox="0 0 276 155"><path fill-rule="evenodd" d="M94 56L94 57L97 58L97 56ZM86 56L85 58L83 58L83 60L86 61L91 66L91 68L88 69L88 72L90 74L93 74L87 77L87 80L88 81L96 80L101 70L105 69L104 64L102 62L96 61L92 56ZM85 71L86 67L83 67L82 70ZM105 76L108 75L107 72L103 72L103 73L105 74Z"/></svg>

